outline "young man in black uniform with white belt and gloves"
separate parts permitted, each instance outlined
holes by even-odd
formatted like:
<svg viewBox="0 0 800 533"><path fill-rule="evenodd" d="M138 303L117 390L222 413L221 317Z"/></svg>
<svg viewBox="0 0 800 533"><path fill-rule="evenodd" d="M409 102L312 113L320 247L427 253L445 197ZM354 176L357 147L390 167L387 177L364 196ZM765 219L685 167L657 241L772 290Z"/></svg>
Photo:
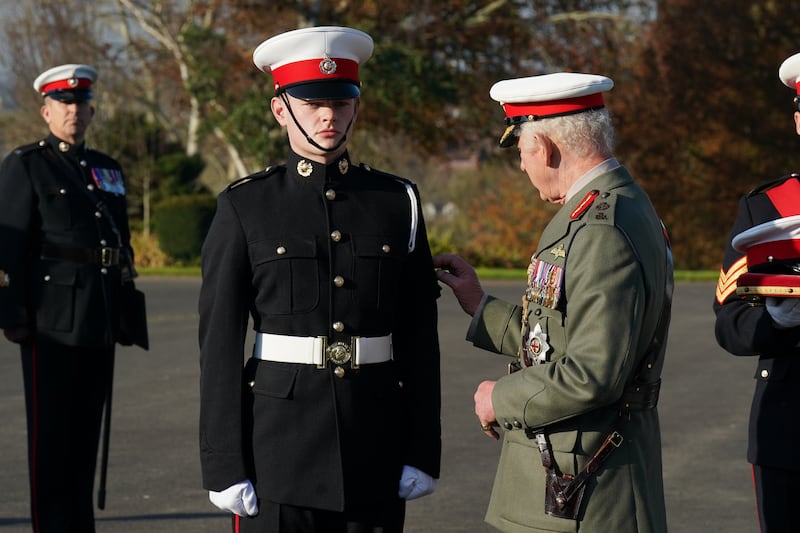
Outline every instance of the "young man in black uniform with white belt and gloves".
<svg viewBox="0 0 800 533"><path fill-rule="evenodd" d="M347 151L372 47L313 27L254 53L288 161L219 195L199 300L203 485L235 531L401 531L405 501L439 476L439 288L419 196Z"/></svg>

